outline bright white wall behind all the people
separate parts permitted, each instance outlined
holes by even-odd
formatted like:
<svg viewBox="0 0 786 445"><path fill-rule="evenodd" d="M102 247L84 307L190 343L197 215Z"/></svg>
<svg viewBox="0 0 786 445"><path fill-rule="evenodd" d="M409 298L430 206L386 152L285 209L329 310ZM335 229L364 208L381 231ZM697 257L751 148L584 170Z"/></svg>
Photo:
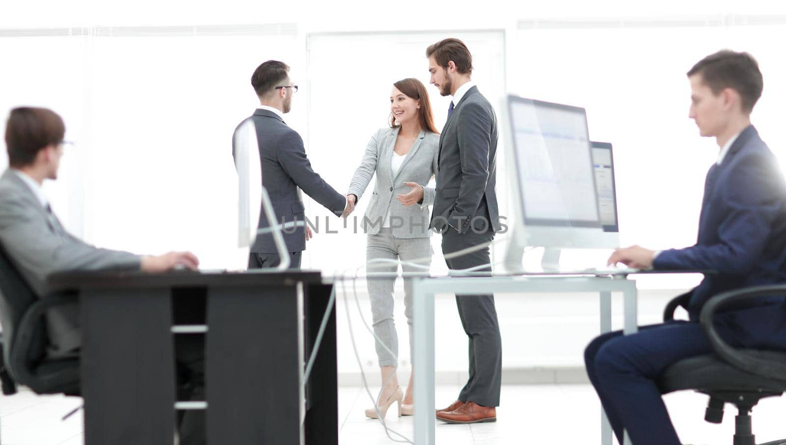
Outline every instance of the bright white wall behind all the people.
<svg viewBox="0 0 786 445"><path fill-rule="evenodd" d="M0 115L23 104L63 115L76 146L61 181L46 184L46 192L73 232L138 253L193 250L208 268L237 265L230 138L256 104L252 71L268 59L285 60L303 86L287 122L307 140L315 170L340 191L365 142L386 123L391 83L410 76L427 82L425 46L452 35L470 43L479 88L493 101L510 91L587 109L590 137L615 145L623 244L666 248L695 240L703 177L718 148L687 118L685 71L708 53L728 47L757 57L765 90L753 119L784 162L782 3L457 5L461 13L444 2L14 2L0 13ZM447 100L427 89L440 127ZM0 151L3 167L4 145ZM498 187L504 196L504 181ZM314 203L308 213L326 215ZM318 234L304 265L361 265L363 243L346 231ZM443 267L439 257L434 265ZM675 289L697 279L639 283ZM568 319L583 316L571 312L570 297L553 301ZM539 313L542 302L532 305ZM652 311L642 316L655 317ZM456 330L455 316L446 311L438 323ZM570 331L581 334L571 348L586 340L584 330ZM542 359L523 357L506 363Z"/></svg>

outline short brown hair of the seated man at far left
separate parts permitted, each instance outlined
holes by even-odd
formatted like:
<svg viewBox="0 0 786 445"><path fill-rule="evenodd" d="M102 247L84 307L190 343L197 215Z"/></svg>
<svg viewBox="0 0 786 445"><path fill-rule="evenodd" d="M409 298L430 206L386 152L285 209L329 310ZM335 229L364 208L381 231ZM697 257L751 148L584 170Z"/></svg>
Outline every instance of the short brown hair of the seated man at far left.
<svg viewBox="0 0 786 445"><path fill-rule="evenodd" d="M31 165L39 151L49 145L60 144L64 136L65 124L54 111L47 108L14 108L6 122L9 165Z"/></svg>

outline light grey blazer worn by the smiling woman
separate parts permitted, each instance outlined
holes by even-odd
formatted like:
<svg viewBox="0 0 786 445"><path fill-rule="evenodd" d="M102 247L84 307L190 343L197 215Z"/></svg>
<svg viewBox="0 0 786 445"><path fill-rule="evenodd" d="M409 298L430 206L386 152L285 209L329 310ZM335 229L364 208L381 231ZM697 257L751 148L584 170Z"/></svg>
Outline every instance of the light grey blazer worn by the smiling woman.
<svg viewBox="0 0 786 445"><path fill-rule="evenodd" d="M439 134L421 130L394 177L391 156L398 136L399 127L396 127L382 128L371 137L360 166L354 171L347 194L354 193L360 200L376 172L371 202L362 221L365 232L372 235L379 233L389 210L391 231L396 238L427 238L432 234L428 230L428 206L434 203L435 191L434 188L426 187L426 184L436 172ZM412 190L405 182L417 182L423 186L423 201L420 205L404 206L395 199L399 193L406 194Z"/></svg>

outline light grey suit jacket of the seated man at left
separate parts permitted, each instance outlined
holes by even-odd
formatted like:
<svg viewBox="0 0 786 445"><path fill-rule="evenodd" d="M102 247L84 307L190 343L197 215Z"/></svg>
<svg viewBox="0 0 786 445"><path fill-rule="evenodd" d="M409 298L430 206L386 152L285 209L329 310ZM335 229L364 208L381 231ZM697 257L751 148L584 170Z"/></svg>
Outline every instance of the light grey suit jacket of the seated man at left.
<svg viewBox="0 0 786 445"><path fill-rule="evenodd" d="M65 231L60 221L18 173L0 177L0 243L36 294L47 294L46 279L55 272L114 269L138 271L141 257L118 250L98 249ZM79 348L79 312L75 305L46 312L50 357L66 356Z"/></svg>

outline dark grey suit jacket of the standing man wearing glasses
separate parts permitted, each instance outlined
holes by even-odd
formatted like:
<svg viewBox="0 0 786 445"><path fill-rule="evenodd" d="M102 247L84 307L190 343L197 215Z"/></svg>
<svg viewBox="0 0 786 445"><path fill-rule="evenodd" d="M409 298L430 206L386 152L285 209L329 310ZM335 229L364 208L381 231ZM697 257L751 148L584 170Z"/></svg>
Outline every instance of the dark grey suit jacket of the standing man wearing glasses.
<svg viewBox="0 0 786 445"><path fill-rule="evenodd" d="M330 187L314 170L308 161L303 138L287 126L273 111L257 109L251 119L256 127L259 159L262 161L262 184L270 195L278 222L304 221L306 207L300 199L298 188L306 192L314 201L341 216L347 198ZM237 133L237 129L235 129ZM232 156L235 153L235 137L232 136ZM259 228L270 227L265 212L259 212ZM306 228L304 226L284 231L287 250L299 252L306 250ZM275 254L278 252L273 235L257 235L251 252Z"/></svg>

